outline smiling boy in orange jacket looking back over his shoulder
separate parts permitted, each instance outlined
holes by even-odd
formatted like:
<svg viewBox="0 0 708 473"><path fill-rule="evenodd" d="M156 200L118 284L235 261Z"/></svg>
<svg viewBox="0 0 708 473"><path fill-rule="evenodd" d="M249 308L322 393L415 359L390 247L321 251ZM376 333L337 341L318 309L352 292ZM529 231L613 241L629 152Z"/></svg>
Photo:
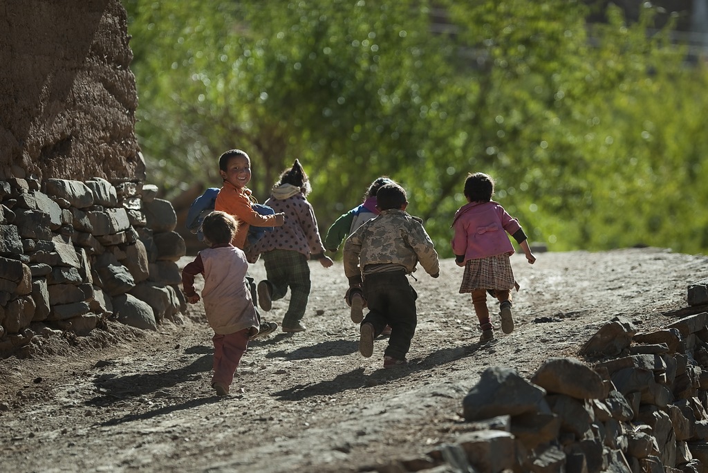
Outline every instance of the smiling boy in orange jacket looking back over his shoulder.
<svg viewBox="0 0 708 473"><path fill-rule="evenodd" d="M236 248L246 249L246 237L249 234L251 225L255 227L279 227L285 223L285 215L282 213L261 215L251 207L252 204L256 203L256 199L251 195L251 189L246 187L251 181L251 158L249 158L248 154L240 149L229 149L229 151L224 152L224 154L219 156L219 174L224 179L224 184L217 194L214 210L227 212L238 222L236 233L231 241ZM253 290L255 285L253 278L246 276L246 281L251 294L253 294L255 305L256 297ZM257 312L256 314L261 324L256 336L272 334L275 329L278 329L278 324L265 321L261 319L260 314Z"/></svg>

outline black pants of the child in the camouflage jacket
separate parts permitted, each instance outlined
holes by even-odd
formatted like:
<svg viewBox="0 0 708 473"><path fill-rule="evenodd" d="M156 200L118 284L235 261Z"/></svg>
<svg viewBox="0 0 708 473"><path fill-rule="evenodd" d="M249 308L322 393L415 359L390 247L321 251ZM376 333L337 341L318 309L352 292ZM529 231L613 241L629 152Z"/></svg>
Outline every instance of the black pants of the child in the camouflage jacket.
<svg viewBox="0 0 708 473"><path fill-rule="evenodd" d="M367 274L363 290L369 313L362 324L372 324L375 336L379 336L387 325L391 326L389 346L384 355L403 360L411 348L418 324L416 290L403 271Z"/></svg>

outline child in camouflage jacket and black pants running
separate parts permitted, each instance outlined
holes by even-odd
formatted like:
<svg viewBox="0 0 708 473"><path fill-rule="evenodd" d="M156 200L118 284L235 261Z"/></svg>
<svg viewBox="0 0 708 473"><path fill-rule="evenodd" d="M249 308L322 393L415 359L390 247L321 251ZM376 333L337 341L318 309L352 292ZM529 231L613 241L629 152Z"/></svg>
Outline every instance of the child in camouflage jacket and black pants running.
<svg viewBox="0 0 708 473"><path fill-rule="evenodd" d="M344 243L344 274L350 287L362 287L369 309L359 329L359 352L369 358L375 336L389 325L384 368L393 368L407 365L406 354L418 324L418 295L406 275L420 262L428 274L438 278L440 263L421 220L406 213L404 188L386 184L376 197L380 214Z"/></svg>

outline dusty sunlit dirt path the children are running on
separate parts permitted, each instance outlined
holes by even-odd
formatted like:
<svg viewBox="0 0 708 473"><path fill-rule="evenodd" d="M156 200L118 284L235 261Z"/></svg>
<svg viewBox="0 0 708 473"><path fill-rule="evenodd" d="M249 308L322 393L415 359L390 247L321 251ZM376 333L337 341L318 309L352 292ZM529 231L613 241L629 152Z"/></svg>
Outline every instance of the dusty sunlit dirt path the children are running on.
<svg viewBox="0 0 708 473"><path fill-rule="evenodd" d="M416 275L411 366L396 372L382 369L385 339L372 358L359 355L341 263L311 264L308 331L253 342L227 398L209 387L201 304L158 333L110 322L90 337L43 339L29 358L0 360L0 470L367 471L454 441L462 398L485 367L530 377L549 356L577 355L615 315L664 326L708 272L708 257L663 249L537 257L530 266L513 256L516 329L491 346L477 343L472 304L457 293L461 268L445 260L440 278ZM251 273L261 279L263 264ZM285 304L268 317L280 322Z"/></svg>

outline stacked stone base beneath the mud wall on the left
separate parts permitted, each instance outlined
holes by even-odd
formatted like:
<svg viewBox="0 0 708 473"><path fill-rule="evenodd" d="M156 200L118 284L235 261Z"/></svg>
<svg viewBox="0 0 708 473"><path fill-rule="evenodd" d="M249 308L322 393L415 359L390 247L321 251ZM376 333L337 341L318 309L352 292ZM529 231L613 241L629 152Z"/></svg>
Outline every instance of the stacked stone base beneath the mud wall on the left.
<svg viewBox="0 0 708 473"><path fill-rule="evenodd" d="M156 191L103 178L0 181L0 353L47 329L176 319L185 244Z"/></svg>

